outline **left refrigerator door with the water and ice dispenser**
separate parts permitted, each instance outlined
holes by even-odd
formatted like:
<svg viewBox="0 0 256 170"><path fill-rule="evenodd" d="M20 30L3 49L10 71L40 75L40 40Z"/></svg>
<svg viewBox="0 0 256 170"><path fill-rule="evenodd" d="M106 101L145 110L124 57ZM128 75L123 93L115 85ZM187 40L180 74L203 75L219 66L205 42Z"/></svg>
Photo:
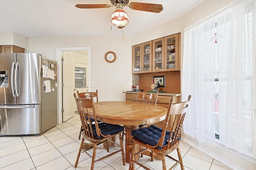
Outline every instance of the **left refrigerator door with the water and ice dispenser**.
<svg viewBox="0 0 256 170"><path fill-rule="evenodd" d="M0 53L0 105L15 104L14 65L15 53ZM4 74L6 73L6 74Z"/></svg>

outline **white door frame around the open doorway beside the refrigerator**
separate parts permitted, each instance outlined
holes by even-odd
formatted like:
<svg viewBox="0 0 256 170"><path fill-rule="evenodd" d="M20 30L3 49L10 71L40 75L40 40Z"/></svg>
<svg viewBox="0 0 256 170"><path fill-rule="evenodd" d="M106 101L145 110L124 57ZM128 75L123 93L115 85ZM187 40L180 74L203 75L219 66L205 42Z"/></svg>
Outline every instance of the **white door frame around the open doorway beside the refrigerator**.
<svg viewBox="0 0 256 170"><path fill-rule="evenodd" d="M67 52L67 51L88 51L88 90L90 91L90 81L91 81L91 68L90 68L90 56L91 51L90 47L67 47L67 48L56 48L56 59L58 62L58 124L62 123L62 62L61 62L61 55L60 52Z"/></svg>

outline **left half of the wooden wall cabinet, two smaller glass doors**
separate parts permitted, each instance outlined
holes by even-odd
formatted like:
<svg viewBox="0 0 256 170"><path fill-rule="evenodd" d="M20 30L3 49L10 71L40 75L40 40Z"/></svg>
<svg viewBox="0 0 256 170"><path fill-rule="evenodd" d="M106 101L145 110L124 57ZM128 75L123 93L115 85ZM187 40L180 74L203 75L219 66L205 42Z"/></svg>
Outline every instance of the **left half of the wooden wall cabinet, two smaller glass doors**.
<svg viewBox="0 0 256 170"><path fill-rule="evenodd" d="M132 74L152 72L152 41L132 46Z"/></svg>

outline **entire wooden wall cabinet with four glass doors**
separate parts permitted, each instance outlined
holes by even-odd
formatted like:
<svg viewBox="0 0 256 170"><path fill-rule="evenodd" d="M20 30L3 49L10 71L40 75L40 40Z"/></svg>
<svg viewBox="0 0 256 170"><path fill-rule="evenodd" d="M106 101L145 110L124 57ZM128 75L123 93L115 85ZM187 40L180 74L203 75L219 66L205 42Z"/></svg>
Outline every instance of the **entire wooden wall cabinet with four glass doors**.
<svg viewBox="0 0 256 170"><path fill-rule="evenodd" d="M132 74L180 70L180 33L132 46Z"/></svg>

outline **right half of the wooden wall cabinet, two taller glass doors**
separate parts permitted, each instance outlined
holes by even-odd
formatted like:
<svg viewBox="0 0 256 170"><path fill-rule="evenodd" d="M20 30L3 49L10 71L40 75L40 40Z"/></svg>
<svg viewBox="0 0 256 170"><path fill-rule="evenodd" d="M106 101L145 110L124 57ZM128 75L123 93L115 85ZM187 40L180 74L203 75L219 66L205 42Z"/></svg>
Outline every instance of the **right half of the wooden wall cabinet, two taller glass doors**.
<svg viewBox="0 0 256 170"><path fill-rule="evenodd" d="M152 72L180 70L180 33L152 41Z"/></svg>

